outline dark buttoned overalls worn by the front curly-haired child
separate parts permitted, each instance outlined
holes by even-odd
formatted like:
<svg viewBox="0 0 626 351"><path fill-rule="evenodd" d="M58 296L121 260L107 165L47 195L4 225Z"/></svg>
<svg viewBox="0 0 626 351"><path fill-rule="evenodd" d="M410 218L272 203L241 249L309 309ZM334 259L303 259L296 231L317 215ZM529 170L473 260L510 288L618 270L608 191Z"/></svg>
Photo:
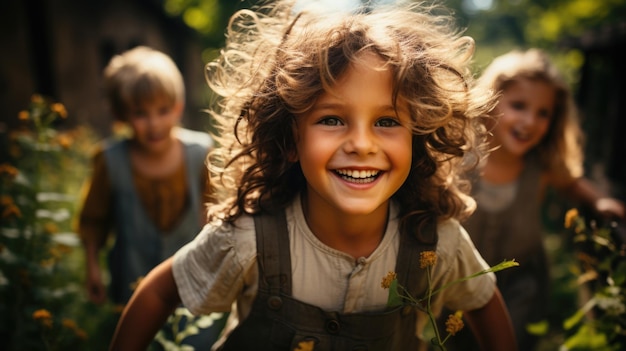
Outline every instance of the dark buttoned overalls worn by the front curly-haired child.
<svg viewBox="0 0 626 351"><path fill-rule="evenodd" d="M258 294L248 318L235 328L220 350L291 351L299 350L299 343L303 341L313 342L316 351L417 350L417 314L408 306L382 312L343 314L294 299L284 212L255 216L255 228ZM431 230L431 237L436 238L435 227ZM436 239L428 245L409 235L401 235L400 240L395 268L398 282L418 292L414 296L423 296L427 278L425 270L419 268L419 253L434 250Z"/></svg>

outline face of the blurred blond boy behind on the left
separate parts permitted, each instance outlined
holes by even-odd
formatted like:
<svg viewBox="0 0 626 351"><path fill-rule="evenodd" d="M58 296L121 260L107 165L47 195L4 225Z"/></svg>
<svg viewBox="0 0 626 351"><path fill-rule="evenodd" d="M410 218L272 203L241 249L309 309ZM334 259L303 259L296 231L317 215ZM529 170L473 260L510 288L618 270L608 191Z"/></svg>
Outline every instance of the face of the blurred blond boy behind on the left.
<svg viewBox="0 0 626 351"><path fill-rule="evenodd" d="M173 128L182 116L183 105L172 105L164 99L129 109L126 121L133 129L135 145L149 153L168 150L174 140Z"/></svg>

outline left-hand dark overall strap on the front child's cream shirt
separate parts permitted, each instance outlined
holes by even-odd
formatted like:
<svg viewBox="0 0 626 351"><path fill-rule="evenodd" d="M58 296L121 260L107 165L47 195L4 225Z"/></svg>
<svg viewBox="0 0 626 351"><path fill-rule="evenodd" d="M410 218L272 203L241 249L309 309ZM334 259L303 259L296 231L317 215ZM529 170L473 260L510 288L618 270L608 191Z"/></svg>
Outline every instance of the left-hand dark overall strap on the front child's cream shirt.
<svg viewBox="0 0 626 351"><path fill-rule="evenodd" d="M259 262L259 287L270 294L291 295L291 255L285 211L254 216Z"/></svg>

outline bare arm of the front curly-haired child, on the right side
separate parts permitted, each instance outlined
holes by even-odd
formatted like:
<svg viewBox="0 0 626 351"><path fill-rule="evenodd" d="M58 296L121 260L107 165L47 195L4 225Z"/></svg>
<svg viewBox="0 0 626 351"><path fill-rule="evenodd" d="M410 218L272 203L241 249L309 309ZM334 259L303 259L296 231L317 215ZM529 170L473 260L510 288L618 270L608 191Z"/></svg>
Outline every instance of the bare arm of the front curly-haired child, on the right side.
<svg viewBox="0 0 626 351"><path fill-rule="evenodd" d="M485 306L467 311L465 317L483 351L517 350L513 325L498 288Z"/></svg>

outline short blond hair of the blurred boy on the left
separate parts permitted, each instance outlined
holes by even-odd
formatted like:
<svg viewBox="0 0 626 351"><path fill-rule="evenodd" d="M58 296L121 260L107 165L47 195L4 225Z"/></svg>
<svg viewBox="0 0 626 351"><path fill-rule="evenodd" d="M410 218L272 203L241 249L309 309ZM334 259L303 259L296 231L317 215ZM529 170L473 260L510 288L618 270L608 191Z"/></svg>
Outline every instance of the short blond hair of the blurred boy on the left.
<svg viewBox="0 0 626 351"><path fill-rule="evenodd" d="M185 101L183 77L174 61L145 46L114 56L104 69L104 87L116 119L124 120L131 108L159 99L170 106Z"/></svg>

